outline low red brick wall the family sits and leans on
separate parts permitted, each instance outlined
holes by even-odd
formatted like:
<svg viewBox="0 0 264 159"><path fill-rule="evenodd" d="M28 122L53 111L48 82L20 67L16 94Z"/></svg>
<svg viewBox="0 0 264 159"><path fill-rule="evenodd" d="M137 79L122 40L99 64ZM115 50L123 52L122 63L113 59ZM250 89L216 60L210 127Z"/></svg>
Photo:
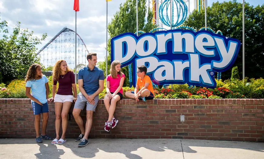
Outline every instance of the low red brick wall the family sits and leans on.
<svg viewBox="0 0 264 159"><path fill-rule="evenodd" d="M70 112L73 108L71 108ZM123 99L117 104L117 127L103 129L108 113L99 100L91 138L173 138L264 141L264 99L154 99L147 103ZM49 104L47 134L55 137L54 103ZM85 120L86 113L81 116ZM180 115L185 121L180 122ZM60 131L61 132L61 131ZM66 137L80 134L69 115ZM0 99L0 138L35 137L29 99Z"/></svg>

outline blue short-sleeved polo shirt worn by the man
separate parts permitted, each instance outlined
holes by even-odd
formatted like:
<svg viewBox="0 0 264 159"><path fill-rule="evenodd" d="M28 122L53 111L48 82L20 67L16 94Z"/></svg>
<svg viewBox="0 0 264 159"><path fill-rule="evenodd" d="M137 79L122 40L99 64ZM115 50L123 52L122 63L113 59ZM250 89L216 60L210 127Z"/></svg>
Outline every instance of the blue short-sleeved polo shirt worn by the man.
<svg viewBox="0 0 264 159"><path fill-rule="evenodd" d="M90 70L88 66L78 72L78 80L83 79L83 89L88 95L93 94L99 88L99 80L104 80L103 70L94 66Z"/></svg>

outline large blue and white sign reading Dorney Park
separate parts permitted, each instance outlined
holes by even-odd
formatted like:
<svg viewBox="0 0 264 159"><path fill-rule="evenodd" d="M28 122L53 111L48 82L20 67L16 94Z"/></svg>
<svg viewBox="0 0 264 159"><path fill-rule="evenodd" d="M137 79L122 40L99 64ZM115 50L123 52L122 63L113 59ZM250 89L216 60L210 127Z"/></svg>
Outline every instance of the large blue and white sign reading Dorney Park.
<svg viewBox="0 0 264 159"><path fill-rule="evenodd" d="M153 83L215 88L215 72L228 70L238 55L240 41L208 31L168 30L136 36L124 33L111 39L111 59L122 67L147 66Z"/></svg>

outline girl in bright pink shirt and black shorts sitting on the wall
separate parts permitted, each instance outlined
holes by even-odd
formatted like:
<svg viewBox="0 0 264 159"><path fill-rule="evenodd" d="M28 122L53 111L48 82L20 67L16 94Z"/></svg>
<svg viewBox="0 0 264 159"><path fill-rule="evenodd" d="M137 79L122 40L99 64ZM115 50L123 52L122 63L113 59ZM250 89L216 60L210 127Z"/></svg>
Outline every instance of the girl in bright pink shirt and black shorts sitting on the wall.
<svg viewBox="0 0 264 159"><path fill-rule="evenodd" d="M107 122L105 122L104 130L107 132L116 127L118 120L113 116L116 110L117 101L123 98L123 83L125 80L124 73L121 72L121 63L114 60L111 63L110 75L107 76L107 94L104 96L103 102L109 114Z"/></svg>

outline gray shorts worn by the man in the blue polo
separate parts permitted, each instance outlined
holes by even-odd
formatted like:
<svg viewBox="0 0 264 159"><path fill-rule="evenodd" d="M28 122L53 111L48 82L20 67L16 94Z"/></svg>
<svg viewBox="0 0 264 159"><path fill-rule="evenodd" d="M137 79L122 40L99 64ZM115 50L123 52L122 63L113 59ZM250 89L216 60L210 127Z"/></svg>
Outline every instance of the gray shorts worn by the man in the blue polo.
<svg viewBox="0 0 264 159"><path fill-rule="evenodd" d="M96 106L97 106L98 101L99 101L99 96L97 95L97 96L94 97L94 103L95 103L95 104L92 105L92 104L90 104L90 103L87 101L87 99L85 98L85 96L83 96L82 93L79 93L79 94L77 95L77 100L76 100L76 102L75 102L73 108L74 108L74 109L77 108L77 109L81 109L81 110L83 110L84 107L85 107L85 104L86 104L86 111L87 111L87 110L91 110L91 111L94 111L94 112L95 112L95 108L96 108Z"/></svg>

